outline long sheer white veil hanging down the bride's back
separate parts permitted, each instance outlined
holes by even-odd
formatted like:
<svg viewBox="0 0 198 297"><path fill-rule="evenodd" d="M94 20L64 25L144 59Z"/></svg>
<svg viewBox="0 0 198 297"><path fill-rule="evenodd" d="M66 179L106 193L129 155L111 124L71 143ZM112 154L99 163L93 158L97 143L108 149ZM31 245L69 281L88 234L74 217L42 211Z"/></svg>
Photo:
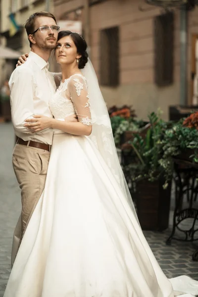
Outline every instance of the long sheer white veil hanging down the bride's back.
<svg viewBox="0 0 198 297"><path fill-rule="evenodd" d="M99 149L100 154L110 168L117 182L120 184L121 190L138 220L133 200L117 155L108 110L99 88L96 72L90 59L88 60L85 68L82 69L82 73L88 81L89 101L93 122L93 129L90 138Z"/></svg>

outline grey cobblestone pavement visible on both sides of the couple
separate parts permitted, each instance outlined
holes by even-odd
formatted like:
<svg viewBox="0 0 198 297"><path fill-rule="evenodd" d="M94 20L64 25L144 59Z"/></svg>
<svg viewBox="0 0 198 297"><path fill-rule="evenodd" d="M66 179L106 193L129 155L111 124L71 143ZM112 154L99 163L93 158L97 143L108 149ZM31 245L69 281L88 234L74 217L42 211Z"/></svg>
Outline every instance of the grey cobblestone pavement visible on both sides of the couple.
<svg viewBox="0 0 198 297"><path fill-rule="evenodd" d="M12 235L20 213L20 191L12 169L14 133L11 123L0 124L0 297L3 296L10 269ZM198 280L198 262L192 261L196 245L165 241L171 229L163 233L145 231L145 236L167 277L186 274Z"/></svg>

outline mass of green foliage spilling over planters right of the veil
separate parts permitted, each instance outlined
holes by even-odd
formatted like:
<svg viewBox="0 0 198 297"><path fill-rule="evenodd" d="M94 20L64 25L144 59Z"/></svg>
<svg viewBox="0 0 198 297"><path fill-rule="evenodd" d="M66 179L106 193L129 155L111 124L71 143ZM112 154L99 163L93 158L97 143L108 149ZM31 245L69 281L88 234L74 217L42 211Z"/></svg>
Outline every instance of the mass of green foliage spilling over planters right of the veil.
<svg viewBox="0 0 198 297"><path fill-rule="evenodd" d="M143 132L145 123L133 118L111 118L114 141L120 145L120 137L125 131L133 131L133 138L124 150L127 165L123 170L132 176L133 181L148 179L152 182L160 177L165 178L164 188L172 178L174 157L192 149L191 160L198 163L198 130L196 127L185 127L184 119L177 123L165 122L160 113L148 115L150 127L146 135ZM114 125L114 126L113 126Z"/></svg>

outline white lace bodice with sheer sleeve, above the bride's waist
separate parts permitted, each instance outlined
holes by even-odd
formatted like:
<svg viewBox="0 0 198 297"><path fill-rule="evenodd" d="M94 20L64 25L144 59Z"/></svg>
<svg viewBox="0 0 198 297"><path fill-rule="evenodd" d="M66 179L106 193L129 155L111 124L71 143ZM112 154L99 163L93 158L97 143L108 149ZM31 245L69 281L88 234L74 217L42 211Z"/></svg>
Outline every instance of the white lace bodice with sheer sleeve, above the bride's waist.
<svg viewBox="0 0 198 297"><path fill-rule="evenodd" d="M56 119L77 114L79 122L91 125L88 85L84 76L74 74L61 82L55 95L49 100L49 108Z"/></svg>

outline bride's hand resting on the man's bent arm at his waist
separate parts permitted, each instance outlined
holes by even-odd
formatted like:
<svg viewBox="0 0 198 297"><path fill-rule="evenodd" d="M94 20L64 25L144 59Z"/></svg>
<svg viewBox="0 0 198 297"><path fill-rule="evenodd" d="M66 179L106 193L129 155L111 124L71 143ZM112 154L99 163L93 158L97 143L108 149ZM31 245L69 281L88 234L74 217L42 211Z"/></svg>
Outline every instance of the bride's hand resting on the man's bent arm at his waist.
<svg viewBox="0 0 198 297"><path fill-rule="evenodd" d="M24 126L27 127L30 132L37 133L51 127L51 121L53 119L49 118L48 116L34 115L33 117L33 119L26 119L26 124L24 124Z"/></svg>

